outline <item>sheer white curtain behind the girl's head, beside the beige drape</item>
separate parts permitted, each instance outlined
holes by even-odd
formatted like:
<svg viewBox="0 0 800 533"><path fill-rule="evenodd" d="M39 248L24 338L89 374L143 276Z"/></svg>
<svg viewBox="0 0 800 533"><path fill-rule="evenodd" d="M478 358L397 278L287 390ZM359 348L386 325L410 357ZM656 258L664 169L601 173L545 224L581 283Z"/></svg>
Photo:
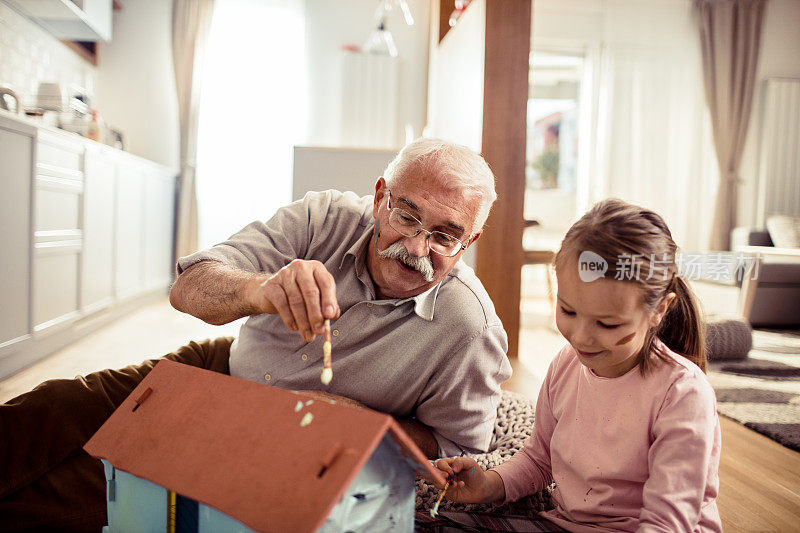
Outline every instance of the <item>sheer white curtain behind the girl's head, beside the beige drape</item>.
<svg viewBox="0 0 800 533"><path fill-rule="evenodd" d="M653 21L668 38L599 47L588 200L653 209L681 248L704 250L719 173L689 4L673 6Z"/></svg>

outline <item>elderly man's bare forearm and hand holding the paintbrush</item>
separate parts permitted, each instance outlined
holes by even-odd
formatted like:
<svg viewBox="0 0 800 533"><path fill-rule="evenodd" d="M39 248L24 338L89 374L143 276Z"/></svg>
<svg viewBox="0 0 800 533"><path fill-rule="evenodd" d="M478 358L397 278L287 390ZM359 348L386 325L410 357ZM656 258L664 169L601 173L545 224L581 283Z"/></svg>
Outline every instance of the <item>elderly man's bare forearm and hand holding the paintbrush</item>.
<svg viewBox="0 0 800 533"><path fill-rule="evenodd" d="M215 325L279 313L306 342L323 333L325 318L339 316L333 276L319 261L301 259L272 275L201 261L178 276L169 301L178 311Z"/></svg>

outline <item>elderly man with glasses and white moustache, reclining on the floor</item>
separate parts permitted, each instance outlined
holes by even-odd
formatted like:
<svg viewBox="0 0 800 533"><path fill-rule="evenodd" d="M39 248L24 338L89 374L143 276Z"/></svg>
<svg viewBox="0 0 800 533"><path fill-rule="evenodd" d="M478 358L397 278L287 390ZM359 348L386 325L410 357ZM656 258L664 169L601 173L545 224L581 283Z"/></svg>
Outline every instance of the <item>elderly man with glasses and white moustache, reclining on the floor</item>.
<svg viewBox="0 0 800 533"><path fill-rule="evenodd" d="M192 343L165 357L392 414L429 457L485 451L511 374L507 338L459 259L495 197L479 155L419 139L389 164L374 197L308 193L267 223L181 258L176 309L212 324L249 318L232 344ZM333 329L327 386L325 319ZM21 435L0 444L6 524L104 524L102 467L81 447L155 362L46 382L0 406L0 432ZM57 444L36 437L33 419Z"/></svg>

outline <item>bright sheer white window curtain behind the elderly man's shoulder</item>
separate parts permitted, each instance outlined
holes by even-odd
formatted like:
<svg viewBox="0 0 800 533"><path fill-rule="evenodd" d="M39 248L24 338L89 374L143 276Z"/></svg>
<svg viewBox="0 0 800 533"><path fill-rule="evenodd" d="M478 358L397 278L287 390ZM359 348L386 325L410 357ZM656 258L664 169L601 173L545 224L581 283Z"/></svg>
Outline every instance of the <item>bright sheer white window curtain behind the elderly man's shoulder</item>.
<svg viewBox="0 0 800 533"><path fill-rule="evenodd" d="M291 200L305 140L305 2L217 0L197 157L200 248Z"/></svg>

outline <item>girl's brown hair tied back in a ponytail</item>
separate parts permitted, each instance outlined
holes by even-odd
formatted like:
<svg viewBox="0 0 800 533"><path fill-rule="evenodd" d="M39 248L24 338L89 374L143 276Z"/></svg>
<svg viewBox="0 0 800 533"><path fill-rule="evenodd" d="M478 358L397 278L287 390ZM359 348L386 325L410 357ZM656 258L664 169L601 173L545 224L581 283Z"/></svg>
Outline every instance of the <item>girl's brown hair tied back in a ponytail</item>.
<svg viewBox="0 0 800 533"><path fill-rule="evenodd" d="M661 323L647 332L639 352L639 369L644 375L654 361L656 337L672 351L706 371L705 327L697 299L678 276L677 245L664 219L657 213L612 198L595 204L567 232L554 263L576 261L584 251L594 252L608 265L604 277L636 283L643 303L652 310L670 292L675 293ZM669 361L656 351L659 359Z"/></svg>

